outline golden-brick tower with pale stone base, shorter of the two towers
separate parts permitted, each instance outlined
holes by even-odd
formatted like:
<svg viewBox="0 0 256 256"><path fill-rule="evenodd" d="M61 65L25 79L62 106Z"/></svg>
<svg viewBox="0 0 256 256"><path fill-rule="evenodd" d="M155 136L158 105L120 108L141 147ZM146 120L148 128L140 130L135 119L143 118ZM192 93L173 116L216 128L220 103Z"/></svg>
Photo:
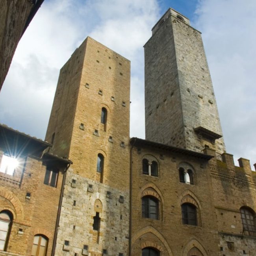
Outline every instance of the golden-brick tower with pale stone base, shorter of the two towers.
<svg viewBox="0 0 256 256"><path fill-rule="evenodd" d="M87 37L62 67L46 133L72 159L55 255L126 255L130 61Z"/></svg>

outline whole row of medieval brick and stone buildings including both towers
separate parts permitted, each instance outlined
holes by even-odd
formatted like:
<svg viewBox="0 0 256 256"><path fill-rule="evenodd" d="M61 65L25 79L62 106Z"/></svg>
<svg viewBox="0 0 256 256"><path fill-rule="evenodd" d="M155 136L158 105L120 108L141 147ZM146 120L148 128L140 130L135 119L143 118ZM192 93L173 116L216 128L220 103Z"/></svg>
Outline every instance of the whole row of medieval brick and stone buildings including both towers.
<svg viewBox="0 0 256 256"><path fill-rule="evenodd" d="M144 48L146 139L129 137L130 61L90 37L45 141L0 126L0 255L256 254L256 173L226 153L200 32L169 9Z"/></svg>

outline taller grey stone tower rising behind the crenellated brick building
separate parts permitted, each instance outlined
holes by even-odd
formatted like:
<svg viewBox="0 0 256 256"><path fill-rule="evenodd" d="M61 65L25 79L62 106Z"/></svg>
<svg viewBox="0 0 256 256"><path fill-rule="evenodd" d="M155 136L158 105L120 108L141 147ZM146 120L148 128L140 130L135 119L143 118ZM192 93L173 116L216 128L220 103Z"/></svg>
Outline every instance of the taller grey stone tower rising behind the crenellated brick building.
<svg viewBox="0 0 256 256"><path fill-rule="evenodd" d="M146 139L225 151L201 33L169 9L145 48Z"/></svg>

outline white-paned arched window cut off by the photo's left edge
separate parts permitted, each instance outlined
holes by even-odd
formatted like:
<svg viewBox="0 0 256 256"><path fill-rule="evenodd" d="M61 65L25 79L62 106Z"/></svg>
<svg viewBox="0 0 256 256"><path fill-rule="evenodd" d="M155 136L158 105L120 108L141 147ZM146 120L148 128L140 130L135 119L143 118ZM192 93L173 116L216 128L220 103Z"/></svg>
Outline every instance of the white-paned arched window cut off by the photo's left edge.
<svg viewBox="0 0 256 256"><path fill-rule="evenodd" d="M0 250L6 250L11 231L13 215L10 211L1 211L0 213Z"/></svg>

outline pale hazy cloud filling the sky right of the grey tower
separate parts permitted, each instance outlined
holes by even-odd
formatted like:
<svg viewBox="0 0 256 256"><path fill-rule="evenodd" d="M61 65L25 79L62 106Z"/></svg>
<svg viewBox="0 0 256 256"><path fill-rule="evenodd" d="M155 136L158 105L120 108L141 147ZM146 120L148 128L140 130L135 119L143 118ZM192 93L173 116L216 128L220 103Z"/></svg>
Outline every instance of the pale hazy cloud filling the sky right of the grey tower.
<svg viewBox="0 0 256 256"><path fill-rule="evenodd" d="M202 0L197 15L227 152L255 163L256 2Z"/></svg>

